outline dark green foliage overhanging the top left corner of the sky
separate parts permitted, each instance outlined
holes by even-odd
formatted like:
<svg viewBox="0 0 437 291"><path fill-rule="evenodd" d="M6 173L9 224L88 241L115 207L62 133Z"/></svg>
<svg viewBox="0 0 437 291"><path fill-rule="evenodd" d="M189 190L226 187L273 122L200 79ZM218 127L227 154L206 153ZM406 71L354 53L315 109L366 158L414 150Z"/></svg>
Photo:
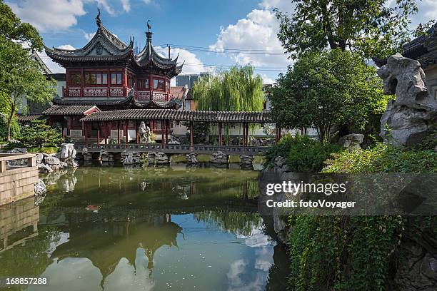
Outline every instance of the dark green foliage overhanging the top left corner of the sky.
<svg viewBox="0 0 437 291"><path fill-rule="evenodd" d="M21 23L11 8L0 0L0 36L8 41L29 44L32 50L41 51L43 41L31 24Z"/></svg>

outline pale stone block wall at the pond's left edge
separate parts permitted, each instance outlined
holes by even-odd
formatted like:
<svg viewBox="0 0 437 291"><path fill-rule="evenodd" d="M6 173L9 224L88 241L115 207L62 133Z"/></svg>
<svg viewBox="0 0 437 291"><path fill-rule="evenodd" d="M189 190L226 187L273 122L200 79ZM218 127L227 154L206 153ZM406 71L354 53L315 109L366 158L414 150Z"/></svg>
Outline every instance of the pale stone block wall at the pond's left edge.
<svg viewBox="0 0 437 291"><path fill-rule="evenodd" d="M0 205L34 196L38 167L23 167L0 173Z"/></svg>

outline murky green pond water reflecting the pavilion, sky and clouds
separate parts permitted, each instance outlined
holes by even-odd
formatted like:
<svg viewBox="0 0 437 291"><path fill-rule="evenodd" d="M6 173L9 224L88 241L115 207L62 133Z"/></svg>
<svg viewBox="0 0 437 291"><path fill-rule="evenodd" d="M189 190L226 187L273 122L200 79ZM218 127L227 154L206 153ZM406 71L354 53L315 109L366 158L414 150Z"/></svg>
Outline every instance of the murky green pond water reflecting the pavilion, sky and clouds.
<svg viewBox="0 0 437 291"><path fill-rule="evenodd" d="M285 290L257 177L185 165L43 177L43 201L0 207L0 277L49 280L6 290Z"/></svg>

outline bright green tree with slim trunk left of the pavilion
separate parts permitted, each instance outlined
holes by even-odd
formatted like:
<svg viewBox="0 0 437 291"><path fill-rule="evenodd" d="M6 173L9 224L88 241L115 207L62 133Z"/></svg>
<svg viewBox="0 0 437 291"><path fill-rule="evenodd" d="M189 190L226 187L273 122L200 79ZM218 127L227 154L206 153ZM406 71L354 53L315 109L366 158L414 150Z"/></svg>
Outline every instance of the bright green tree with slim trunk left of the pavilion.
<svg viewBox="0 0 437 291"><path fill-rule="evenodd" d="M6 140L11 138L11 121L22 107L22 99L47 103L53 97L56 83L47 80L39 63L20 44L0 36L0 98L6 107Z"/></svg>

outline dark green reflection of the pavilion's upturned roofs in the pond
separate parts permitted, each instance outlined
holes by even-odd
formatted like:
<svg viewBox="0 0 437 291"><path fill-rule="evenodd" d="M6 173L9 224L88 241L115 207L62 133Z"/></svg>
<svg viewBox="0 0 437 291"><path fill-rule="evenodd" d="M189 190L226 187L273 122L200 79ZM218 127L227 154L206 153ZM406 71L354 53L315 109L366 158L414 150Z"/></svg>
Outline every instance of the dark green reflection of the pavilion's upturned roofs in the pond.
<svg viewBox="0 0 437 291"><path fill-rule="evenodd" d="M171 222L171 215L156 215L125 222L104 224L81 223L70 231L69 242L56 247L51 257L63 260L67 257L86 257L99 268L104 280L126 258L135 266L136 251L144 250L149 262L149 275L154 267L154 255L160 247L178 246L176 237L182 228Z"/></svg>

